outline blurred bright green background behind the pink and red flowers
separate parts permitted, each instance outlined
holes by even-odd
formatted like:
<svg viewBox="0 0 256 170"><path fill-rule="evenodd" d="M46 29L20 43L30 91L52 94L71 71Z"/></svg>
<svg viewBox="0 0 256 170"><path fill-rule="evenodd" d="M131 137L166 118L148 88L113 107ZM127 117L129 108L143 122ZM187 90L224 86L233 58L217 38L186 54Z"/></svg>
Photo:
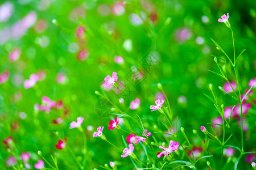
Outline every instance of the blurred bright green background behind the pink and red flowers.
<svg viewBox="0 0 256 170"><path fill-rule="evenodd" d="M200 131L201 125L209 127L207 122L219 116L212 102L203 95L203 92L210 95L209 83L213 84L221 104L225 107L237 104L218 90L225 80L207 71L218 72L211 54L225 58L210 38L216 40L228 55L233 55L231 32L225 24L217 22L227 12L234 31L236 53L246 48L238 62L242 91L248 88L249 80L256 75L256 1L127 1L125 7L119 7L121 10L115 7L123 3L121 1L18 0L1 1L1 7L6 3L9 6L11 4L12 12L7 19L3 14L8 11L1 8L3 13L0 12L0 73L8 70L10 77L7 82L0 84L0 136L1 140L9 135L13 137L18 155L23 151L31 152L32 168L39 159L36 153L40 150L47 160L51 159L51 154L56 154L59 169L79 169L67 149L55 148L59 138L54 132L68 137L68 145L82 159L81 133L77 129L69 129L69 124L82 116L85 118L82 128L86 131L88 145L86 169L101 169L99 165L104 166L110 161L116 161L118 169L133 169L131 160L121 158L120 151L100 138L92 138L93 131L98 126L104 126L103 133L109 141L125 147L121 135L126 137L127 134L117 129L107 129L114 115L101 117L95 111L96 103L101 98L94 92L102 94L101 84L107 75L112 76L113 71L117 72L118 80L122 80L129 88L130 94L118 96L105 91L106 95L130 116L138 119L138 114L144 127L151 131L159 145L168 142L163 135L154 134L157 130L153 126L164 131L166 129L161 122L165 120L159 112L151 112L149 107L155 103L156 93L160 92L157 84L162 83L170 100L174 122L178 116L178 127L185 128L193 146L200 146L192 129ZM22 19L23 25L19 23ZM76 35L79 26L86 29L82 38ZM20 49L20 57L11 62L9 54L15 48ZM77 56L83 49L88 50L89 54L80 61ZM144 66L148 53L153 54L156 61L151 66ZM115 63L115 56L123 57L124 63ZM144 73L138 86L130 78L134 68ZM46 79L36 83L35 87L24 89L24 80L39 70L46 73ZM228 70L232 70L229 65ZM67 82L57 83L58 73L67 75ZM234 78L234 74L229 75L230 80L234 81ZM35 113L34 105L40 104L44 95L51 100L63 100L65 109L51 110L49 114ZM179 102L177 99L180 96L184 96L186 101ZM119 104L121 97L125 100L124 104ZM129 104L135 98L141 100L141 105L131 111ZM64 111L67 116L64 116ZM27 117L21 119L20 112L26 113ZM249 131L245 133L245 150L255 150L255 105L246 116ZM64 123L52 124L52 120L57 117L63 117ZM17 130L11 127L13 122L18 124ZM124 129L133 129L139 133L138 125L133 121L130 124L124 118ZM240 141L237 124L234 120L232 129ZM93 126L92 131L86 130L89 125ZM200 135L203 137L203 134ZM180 139L184 140L181 134ZM143 149L137 147L137 157L145 160ZM214 151L214 144L209 150L214 155L212 162L216 162L217 166L219 160L216 156L221 154ZM155 147L155 151L160 150ZM236 154L234 156L237 157ZM6 169L5 160L8 156L2 143L2 169ZM226 169L231 169L233 164L228 166ZM243 158L240 166L240 169L249 169L250 164L246 164ZM206 163L202 162L199 169L205 168Z"/></svg>

